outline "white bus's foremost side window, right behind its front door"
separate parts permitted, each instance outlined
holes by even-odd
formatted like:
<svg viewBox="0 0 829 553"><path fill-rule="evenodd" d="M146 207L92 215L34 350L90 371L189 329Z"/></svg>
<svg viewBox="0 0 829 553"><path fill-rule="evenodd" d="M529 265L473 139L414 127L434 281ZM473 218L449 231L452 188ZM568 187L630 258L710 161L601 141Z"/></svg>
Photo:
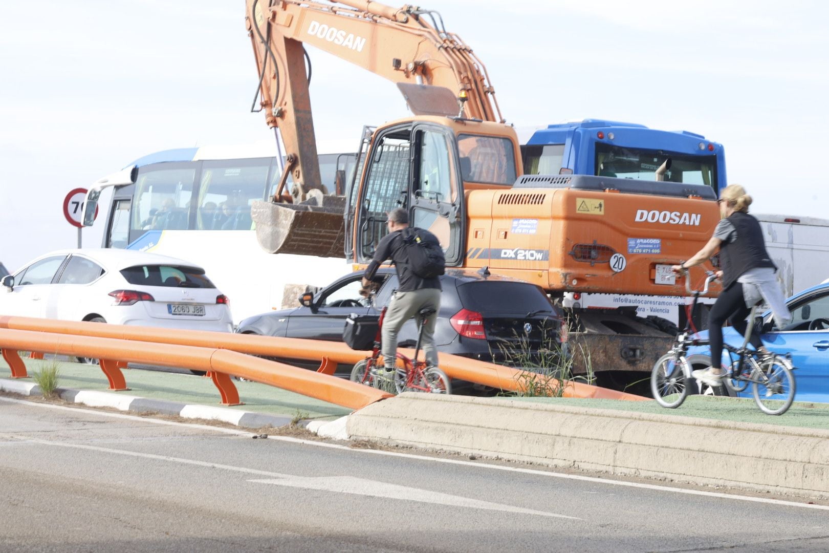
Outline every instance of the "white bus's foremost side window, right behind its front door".
<svg viewBox="0 0 829 553"><path fill-rule="evenodd" d="M131 230L187 229L195 174L195 168L139 172Z"/></svg>

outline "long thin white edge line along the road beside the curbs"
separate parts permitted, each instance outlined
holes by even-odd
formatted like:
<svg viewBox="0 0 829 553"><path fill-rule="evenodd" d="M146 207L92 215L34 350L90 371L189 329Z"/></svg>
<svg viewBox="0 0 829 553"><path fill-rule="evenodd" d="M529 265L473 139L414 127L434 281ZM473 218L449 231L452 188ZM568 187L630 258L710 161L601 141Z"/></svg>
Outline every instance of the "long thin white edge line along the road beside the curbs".
<svg viewBox="0 0 829 553"><path fill-rule="evenodd" d="M57 409L57 410L69 410L78 412L83 411L86 414L90 415L100 415L100 416L108 416L114 419L126 419L126 420L134 420L138 422L145 422L145 423L153 423L153 424L167 424L170 426L184 426L191 429L203 429L203 430L211 430L212 432L221 433L221 434L235 434L240 436L251 436L253 433L247 432L245 430L235 430L235 429L225 429L219 428L216 426L208 426L206 424L192 424L192 423L179 423L172 420L160 420L160 419L152 419L148 417L140 417L137 415L123 415L121 413L109 413L106 411L97 411L97 410L88 410L88 409L81 409L79 407L69 407L65 405L51 405L48 403L36 403L34 401L27 401L27 400L14 400L12 398L7 397L0 397L0 401L7 401L9 403L20 403L38 407L45 407L49 409ZM827 505L813 505L811 503L802 503L802 502L792 502L792 501L785 501L783 499L769 499L766 497L749 497L749 496L739 496L730 493L720 493L720 492L705 492L704 490L691 490L685 488L670 488L668 486L658 486L657 484L645 484L645 483L636 483L636 482L625 482L623 480L613 480L612 478L595 478L590 476L582 476L580 474L565 474L565 473L555 473L552 471L545 471L545 470L537 470L534 468L520 468L520 467L506 467L497 464L490 464L490 463L474 463L472 461L462 461L460 459L447 459L447 458L437 458L437 457L429 457L426 455L415 455L415 454L402 454L396 451L381 451L380 449L354 449L347 445L342 444L327 444L325 442L315 442L308 439L298 439L298 438L290 438L288 436L268 436L268 439L277 439L284 442L292 442L293 444L305 444L305 445L312 445L318 448L332 448L332 449L342 449L346 451L351 451L352 453L356 454L374 454L374 455L389 455L391 457L402 457L402 458L412 458L412 459L419 459L421 461L431 461L434 463L448 463L448 464L458 464L458 465L465 465L469 467L477 467L477 468L490 468L493 470L503 470L507 472L514 472L514 473L525 473L525 474L536 474L538 476L545 476L549 478L563 478L565 480L578 480L580 482L591 482L597 484L606 484L608 486L622 486L624 488L640 488L640 489L648 489L654 490L657 492L669 492L669 493L685 493L687 495L696 495L696 496L703 496L703 497L716 497L719 499L730 499L733 501L746 501L746 502L755 502L755 503L767 503L769 505L780 505L784 507L800 507L803 509L817 509L820 511L829 511L829 506ZM53 444L53 442L48 442L49 444ZM91 447L91 446L90 446ZM159 456L160 457L160 456ZM187 461L187 459L182 459ZM198 461L193 461L192 463L201 463ZM207 466L219 466L214 463L205 463ZM261 472L261 471L259 471ZM271 473L274 474L274 473ZM277 475L277 478L287 475Z"/></svg>

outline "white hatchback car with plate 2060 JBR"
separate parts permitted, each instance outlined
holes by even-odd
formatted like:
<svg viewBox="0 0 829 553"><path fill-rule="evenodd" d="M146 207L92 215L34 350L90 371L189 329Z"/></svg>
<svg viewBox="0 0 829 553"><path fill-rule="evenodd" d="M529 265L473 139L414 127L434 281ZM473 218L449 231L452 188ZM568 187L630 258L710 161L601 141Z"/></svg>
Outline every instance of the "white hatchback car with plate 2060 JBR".
<svg viewBox="0 0 829 553"><path fill-rule="evenodd" d="M2 279L0 314L233 332L204 269L133 250L59 250Z"/></svg>

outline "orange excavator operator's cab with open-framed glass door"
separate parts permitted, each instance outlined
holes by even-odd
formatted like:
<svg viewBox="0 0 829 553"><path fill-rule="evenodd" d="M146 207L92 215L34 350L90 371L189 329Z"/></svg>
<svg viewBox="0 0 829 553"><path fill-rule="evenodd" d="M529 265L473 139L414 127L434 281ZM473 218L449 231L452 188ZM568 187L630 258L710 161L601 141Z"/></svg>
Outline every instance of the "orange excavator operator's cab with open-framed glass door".
<svg viewBox="0 0 829 553"><path fill-rule="evenodd" d="M354 247L347 255L355 263L368 263L387 232L386 214L403 207L412 226L438 237L449 266L463 264L464 181L477 182L470 187L509 187L515 182L516 140L507 129L511 131L502 124L433 116L377 129L350 202Z"/></svg>

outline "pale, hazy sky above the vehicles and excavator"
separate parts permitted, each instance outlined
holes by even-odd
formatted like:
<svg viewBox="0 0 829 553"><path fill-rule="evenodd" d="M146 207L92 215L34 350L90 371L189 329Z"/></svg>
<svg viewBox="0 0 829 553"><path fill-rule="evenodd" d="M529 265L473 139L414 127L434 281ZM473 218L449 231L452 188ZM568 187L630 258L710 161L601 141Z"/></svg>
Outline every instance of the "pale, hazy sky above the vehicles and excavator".
<svg viewBox="0 0 829 553"><path fill-rule="evenodd" d="M829 146L829 2L422 6L473 47L508 123L700 133L724 144L728 181L755 213L829 218L815 169ZM0 2L0 262L75 247L66 193L136 158L273 140L250 113L258 75L244 20L244 0ZM392 83L308 50L321 150L354 150L363 125L408 114Z"/></svg>

